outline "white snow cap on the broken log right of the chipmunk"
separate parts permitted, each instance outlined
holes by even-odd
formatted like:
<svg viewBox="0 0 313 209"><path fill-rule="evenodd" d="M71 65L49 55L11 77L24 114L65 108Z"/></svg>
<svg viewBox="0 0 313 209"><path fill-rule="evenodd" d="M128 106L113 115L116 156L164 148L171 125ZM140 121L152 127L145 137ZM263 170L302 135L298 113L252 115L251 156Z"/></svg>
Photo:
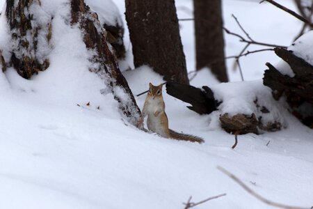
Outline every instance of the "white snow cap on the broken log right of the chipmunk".
<svg viewBox="0 0 313 209"><path fill-rule="evenodd" d="M257 118L262 117L264 125L279 122L286 126L284 121L283 102L276 102L271 95L271 88L263 85L262 79L252 82L232 82L211 86L214 98L222 102L218 109L220 114L255 114ZM256 105L257 104L257 105ZM266 108L270 113L262 112Z"/></svg>

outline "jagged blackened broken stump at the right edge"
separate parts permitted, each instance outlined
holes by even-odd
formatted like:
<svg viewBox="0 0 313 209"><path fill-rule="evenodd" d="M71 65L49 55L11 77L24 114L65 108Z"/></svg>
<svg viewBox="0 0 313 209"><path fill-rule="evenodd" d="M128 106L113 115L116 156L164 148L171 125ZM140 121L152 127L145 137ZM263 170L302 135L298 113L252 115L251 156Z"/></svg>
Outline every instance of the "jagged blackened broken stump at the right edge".
<svg viewBox="0 0 313 209"><path fill-rule="evenodd" d="M275 53L294 71L294 77L282 75L273 65L266 63L263 83L272 89L275 100L282 95L294 114L305 125L313 128L313 66L286 49L275 48Z"/></svg>

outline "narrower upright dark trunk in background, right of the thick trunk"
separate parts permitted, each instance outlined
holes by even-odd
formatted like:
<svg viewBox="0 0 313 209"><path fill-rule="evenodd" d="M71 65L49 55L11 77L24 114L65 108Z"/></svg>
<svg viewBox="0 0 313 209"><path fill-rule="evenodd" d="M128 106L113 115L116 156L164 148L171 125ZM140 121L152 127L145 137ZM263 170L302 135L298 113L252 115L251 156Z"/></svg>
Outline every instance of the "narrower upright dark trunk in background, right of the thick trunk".
<svg viewBox="0 0 313 209"><path fill-rule="evenodd" d="M196 68L208 67L220 82L228 82L221 0L193 0Z"/></svg>

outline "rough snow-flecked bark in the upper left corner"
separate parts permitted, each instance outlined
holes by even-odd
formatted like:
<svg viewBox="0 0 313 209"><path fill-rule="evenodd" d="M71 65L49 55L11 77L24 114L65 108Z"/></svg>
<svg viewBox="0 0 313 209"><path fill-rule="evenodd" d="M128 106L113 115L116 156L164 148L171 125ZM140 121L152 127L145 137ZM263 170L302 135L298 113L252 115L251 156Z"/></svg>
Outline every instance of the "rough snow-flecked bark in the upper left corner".
<svg viewBox="0 0 313 209"><path fill-rule="evenodd" d="M15 1L6 0L6 17L13 43L13 52L9 62L13 64L19 75L26 79L49 67L47 56L38 53L37 37L39 33L47 34L47 40L42 43L47 47L47 51L49 51L51 38L51 21L45 22L45 25L36 22L36 16L30 11L31 6L40 6L40 1L20 0L15 4ZM32 21L37 24L32 24ZM31 36L27 36L28 34Z"/></svg>

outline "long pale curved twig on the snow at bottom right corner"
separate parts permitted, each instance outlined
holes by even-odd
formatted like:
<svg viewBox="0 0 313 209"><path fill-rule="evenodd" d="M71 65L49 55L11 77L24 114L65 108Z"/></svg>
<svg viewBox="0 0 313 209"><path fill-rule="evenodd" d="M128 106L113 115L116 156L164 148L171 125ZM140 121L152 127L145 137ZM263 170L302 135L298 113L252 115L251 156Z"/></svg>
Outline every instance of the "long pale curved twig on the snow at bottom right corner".
<svg viewBox="0 0 313 209"><path fill-rule="evenodd" d="M247 185L245 185L239 178L237 178L236 176L234 176L234 174L230 173L230 171L227 171L226 169L223 169L222 167L218 167L218 170L222 171L223 173L225 173L228 177L232 178L232 180L234 180L236 183L238 183L241 187L243 187L243 189L246 190L246 192L248 192L249 194L251 194L252 196L254 196L256 199L258 199L259 201L262 201L263 203L266 203L268 206L274 206L276 208L284 208L284 209L309 209L309 208L301 208L301 207L297 207L297 206L287 206L281 203L276 203L274 201L270 201L266 198L264 198L263 196L257 194L255 191L253 191L252 189L250 189Z"/></svg>

